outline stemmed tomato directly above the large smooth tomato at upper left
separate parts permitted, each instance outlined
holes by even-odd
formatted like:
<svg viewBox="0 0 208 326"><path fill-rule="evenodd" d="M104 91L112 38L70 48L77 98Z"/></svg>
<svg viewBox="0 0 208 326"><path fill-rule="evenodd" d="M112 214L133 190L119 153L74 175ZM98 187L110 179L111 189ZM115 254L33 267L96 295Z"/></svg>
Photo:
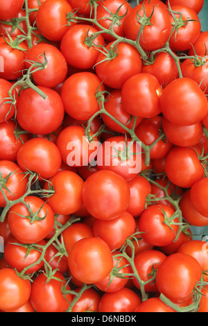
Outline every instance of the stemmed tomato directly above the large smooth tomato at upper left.
<svg viewBox="0 0 208 326"><path fill-rule="evenodd" d="M26 53L26 68L31 67L31 62L45 62L46 68L33 72L36 68L32 69L32 75L35 83L44 87L55 87L62 83L67 76L67 60L54 45L51 44L37 44L32 46ZM58 64L57 64L58 62Z"/></svg>

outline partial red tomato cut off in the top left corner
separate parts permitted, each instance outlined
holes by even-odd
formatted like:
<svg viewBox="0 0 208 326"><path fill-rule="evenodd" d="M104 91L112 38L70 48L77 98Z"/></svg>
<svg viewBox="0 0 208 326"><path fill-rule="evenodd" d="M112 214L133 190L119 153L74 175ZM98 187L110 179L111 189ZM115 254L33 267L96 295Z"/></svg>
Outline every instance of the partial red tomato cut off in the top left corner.
<svg viewBox="0 0 208 326"><path fill-rule="evenodd" d="M9 0L9 1L0 1L0 7L1 7L1 14L0 19L6 20L6 19L12 19L14 18L21 8L24 5L24 0Z"/></svg>

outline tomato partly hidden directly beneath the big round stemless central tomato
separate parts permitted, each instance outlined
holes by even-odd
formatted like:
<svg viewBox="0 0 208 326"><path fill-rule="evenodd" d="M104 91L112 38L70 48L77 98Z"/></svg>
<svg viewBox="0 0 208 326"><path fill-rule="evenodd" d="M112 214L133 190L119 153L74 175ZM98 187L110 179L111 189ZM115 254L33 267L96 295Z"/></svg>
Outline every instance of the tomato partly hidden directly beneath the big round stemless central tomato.
<svg viewBox="0 0 208 326"><path fill-rule="evenodd" d="M119 250L125 240L134 233L135 228L135 218L128 212L110 221L95 218L92 226L94 237L103 239L111 250Z"/></svg>

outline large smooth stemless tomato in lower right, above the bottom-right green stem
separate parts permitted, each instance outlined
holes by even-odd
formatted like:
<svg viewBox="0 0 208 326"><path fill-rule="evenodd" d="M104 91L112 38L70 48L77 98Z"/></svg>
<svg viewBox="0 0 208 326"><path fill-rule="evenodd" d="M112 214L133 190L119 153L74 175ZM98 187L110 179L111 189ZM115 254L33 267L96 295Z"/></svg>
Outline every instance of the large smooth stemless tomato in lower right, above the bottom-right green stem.
<svg viewBox="0 0 208 326"><path fill-rule="evenodd" d="M191 298L196 283L200 281L202 268L198 261L184 253L166 257L157 269L156 285L159 293L175 303Z"/></svg>

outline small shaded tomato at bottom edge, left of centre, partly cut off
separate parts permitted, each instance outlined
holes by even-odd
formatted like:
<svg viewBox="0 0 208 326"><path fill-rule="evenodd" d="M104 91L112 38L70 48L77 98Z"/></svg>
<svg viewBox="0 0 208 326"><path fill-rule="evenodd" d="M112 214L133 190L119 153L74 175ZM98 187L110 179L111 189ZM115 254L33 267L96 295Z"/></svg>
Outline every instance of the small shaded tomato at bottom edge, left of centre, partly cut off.
<svg viewBox="0 0 208 326"><path fill-rule="evenodd" d="M76 288L73 291L79 293L82 288ZM76 295L72 295L72 300L76 298ZM101 295L93 288L86 289L80 296L80 298L73 304L71 312L97 312Z"/></svg>

